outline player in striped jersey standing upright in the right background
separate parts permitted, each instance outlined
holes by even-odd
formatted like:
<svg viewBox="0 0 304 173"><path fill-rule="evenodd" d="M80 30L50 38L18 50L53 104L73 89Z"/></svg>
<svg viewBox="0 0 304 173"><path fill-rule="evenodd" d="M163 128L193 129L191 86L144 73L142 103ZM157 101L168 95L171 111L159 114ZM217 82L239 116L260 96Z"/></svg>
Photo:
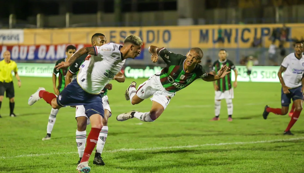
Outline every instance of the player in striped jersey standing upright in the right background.
<svg viewBox="0 0 304 173"><path fill-rule="evenodd" d="M216 75L217 71L221 69L223 65L227 65L230 70L234 71L235 81L233 82L233 87L237 87L237 69L232 61L227 59L227 54L225 49L219 50L219 60L213 63L213 75ZM227 109L228 109L228 119L227 121L232 121L233 114L233 88L231 84L231 74L227 74L225 78L213 81L213 86L215 90L215 117L211 121L219 120L219 113L221 111L221 100L226 99Z"/></svg>

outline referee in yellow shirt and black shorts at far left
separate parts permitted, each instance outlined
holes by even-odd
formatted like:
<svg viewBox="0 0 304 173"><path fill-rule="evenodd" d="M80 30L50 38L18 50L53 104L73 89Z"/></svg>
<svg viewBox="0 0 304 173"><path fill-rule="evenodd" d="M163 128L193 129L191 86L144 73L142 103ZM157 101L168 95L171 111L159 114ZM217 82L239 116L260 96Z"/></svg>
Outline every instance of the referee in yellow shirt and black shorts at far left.
<svg viewBox="0 0 304 173"><path fill-rule="evenodd" d="M15 90L13 83L12 72L18 80L18 86L21 86L21 80L18 75L18 68L15 61L11 60L11 52L5 51L3 53L3 60L0 61L0 108L3 101L4 93L9 97L9 116L16 117L14 114L15 108ZM0 115L1 118L1 115Z"/></svg>

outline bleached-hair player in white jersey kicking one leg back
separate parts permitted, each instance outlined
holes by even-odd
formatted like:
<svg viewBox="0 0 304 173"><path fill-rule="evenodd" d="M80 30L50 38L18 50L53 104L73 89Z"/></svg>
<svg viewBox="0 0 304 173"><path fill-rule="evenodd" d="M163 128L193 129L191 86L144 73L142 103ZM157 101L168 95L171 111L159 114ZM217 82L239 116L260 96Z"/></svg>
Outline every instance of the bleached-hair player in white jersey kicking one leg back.
<svg viewBox="0 0 304 173"><path fill-rule="evenodd" d="M91 122L91 131L87 137L81 163L77 166L79 172L88 173L91 171L88 160L103 126L104 109L100 93L105 85L120 72L126 58L135 58L140 54L141 45L140 37L130 35L124 40L123 46L107 43L102 46L81 48L71 56L68 62L61 62L55 66L57 69L67 68L81 55L94 55L81 65L82 68L78 72L77 80L68 84L57 98L55 94L47 92L42 87L29 97L29 105L33 105L43 98L54 109L63 106L84 105L85 114Z"/></svg>

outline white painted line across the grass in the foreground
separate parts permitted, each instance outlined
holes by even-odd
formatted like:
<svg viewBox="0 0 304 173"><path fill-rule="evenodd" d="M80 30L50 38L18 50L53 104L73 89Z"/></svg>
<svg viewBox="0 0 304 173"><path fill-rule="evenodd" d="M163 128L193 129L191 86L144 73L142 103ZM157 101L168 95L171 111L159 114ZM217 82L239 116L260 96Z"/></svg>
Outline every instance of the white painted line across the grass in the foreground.
<svg viewBox="0 0 304 173"><path fill-rule="evenodd" d="M264 140L264 141L251 141L251 142L233 142L233 143L206 143L202 145L184 145L184 146L173 146L173 147L152 147L152 148L121 148L117 150L105 150L107 153L127 152L127 151L155 151L155 150L170 150L170 149L181 149L181 148L196 148L205 146L223 146L223 145L243 145L243 144L254 144L254 143L273 143L273 142L285 142L301 140L304 137L289 138L289 139L275 139L275 140ZM75 147L76 148L76 147ZM22 154L19 156L0 156L1 159L10 159L17 157L39 157L39 156L50 156L50 155L61 155L61 154L77 154L78 152L58 152L58 153L42 153L42 154Z"/></svg>

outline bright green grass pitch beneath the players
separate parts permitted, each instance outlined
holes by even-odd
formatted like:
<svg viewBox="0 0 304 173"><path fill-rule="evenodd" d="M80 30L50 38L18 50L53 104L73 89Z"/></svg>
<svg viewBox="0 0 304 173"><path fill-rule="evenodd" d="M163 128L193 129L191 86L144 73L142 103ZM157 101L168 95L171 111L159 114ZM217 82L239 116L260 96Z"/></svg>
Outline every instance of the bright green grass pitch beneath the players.
<svg viewBox="0 0 304 173"><path fill-rule="evenodd" d="M143 81L136 80L138 84ZM212 83L203 81L179 91L155 122L118 122L120 113L150 110L150 100L136 106L125 101L123 94L130 82L132 79L112 82L109 102L113 116L102 154L106 165L93 165L91 158L92 173L304 172L303 118L291 130L295 136L283 136L288 115L262 118L266 104L280 107L279 83L239 82L234 90L233 122L226 121L225 101L221 120L209 121L214 116L214 91ZM15 84L15 118L9 117L8 99L2 103L0 172L77 172L75 109L60 109L52 139L42 141L50 105L43 100L27 104L39 86L53 91L51 78L22 77L22 87Z"/></svg>

